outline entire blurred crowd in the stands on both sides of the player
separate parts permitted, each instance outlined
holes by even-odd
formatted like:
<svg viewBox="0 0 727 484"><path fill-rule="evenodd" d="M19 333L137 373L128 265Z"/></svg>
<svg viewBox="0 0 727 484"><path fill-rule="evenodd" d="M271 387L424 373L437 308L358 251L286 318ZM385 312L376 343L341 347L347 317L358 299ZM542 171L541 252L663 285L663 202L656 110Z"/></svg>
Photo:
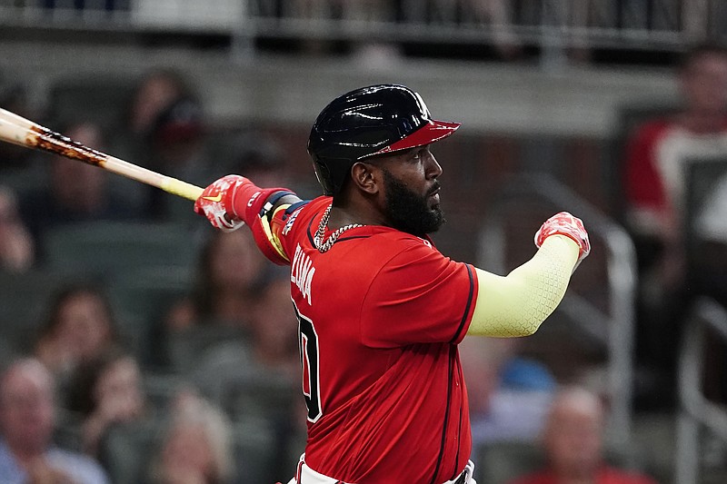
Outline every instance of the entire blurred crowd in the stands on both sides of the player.
<svg viewBox="0 0 727 484"><path fill-rule="evenodd" d="M713 184L694 219L704 237L703 257L692 260L682 175L685 160L727 153L727 53L695 49L677 75L683 104L629 133L619 170L623 204L616 215L638 252L635 358L645 377L636 393L647 410L675 408L675 361L689 301L708 294L727 304L727 177ZM172 70L141 76L110 121L83 114L70 121L44 118L32 112L22 87L0 94L6 109L189 183L205 186L226 173L304 193L310 183L290 176L275 140L244 131L215 138L194 86ZM115 261L113 273L99 274L90 259L73 270L60 263L74 254L58 252L59 234L99 224L132 232L174 224L184 236L175 243L191 246L193 257L177 264L179 277L167 277L177 266L136 267L121 253L105 253ZM174 259L183 251L167 252ZM45 287L38 308L26 311L33 321L0 321L6 326L0 481L246 484L290 478L305 439L297 321L288 273L264 261L248 232L214 232L181 198L3 143L0 279L12 285L28 274L41 274L36 289ZM159 287L150 282L143 295L119 296L121 282L139 287L144 274ZM9 318L3 311L0 316ZM611 467L602 447L603 386L563 389L566 382L543 361L523 355L521 343L461 345L475 444L542 443L551 467L518 484L593 476L602 480L589 482L652 482ZM710 351L727 367L723 348ZM710 396L727 401L725 374L709 381ZM564 477L553 477L559 474Z"/></svg>

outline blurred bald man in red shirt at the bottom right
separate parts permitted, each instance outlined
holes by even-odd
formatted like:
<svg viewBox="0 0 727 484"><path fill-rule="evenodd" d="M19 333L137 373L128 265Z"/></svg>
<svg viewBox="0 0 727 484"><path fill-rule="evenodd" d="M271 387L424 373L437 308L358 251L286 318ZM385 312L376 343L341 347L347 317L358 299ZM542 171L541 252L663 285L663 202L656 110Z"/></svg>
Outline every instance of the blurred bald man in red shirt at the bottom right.
<svg viewBox="0 0 727 484"><path fill-rule="evenodd" d="M511 484L655 484L645 475L605 462L602 401L580 388L559 390L543 432L547 467Z"/></svg>

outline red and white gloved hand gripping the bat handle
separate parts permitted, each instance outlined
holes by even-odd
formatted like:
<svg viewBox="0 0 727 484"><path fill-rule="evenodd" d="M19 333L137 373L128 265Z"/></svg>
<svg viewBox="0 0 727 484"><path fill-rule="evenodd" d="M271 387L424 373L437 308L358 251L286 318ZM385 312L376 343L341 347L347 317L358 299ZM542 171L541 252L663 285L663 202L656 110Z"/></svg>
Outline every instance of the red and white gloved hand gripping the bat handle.
<svg viewBox="0 0 727 484"><path fill-rule="evenodd" d="M232 232L244 225L233 210L235 188L246 181L244 176L228 174L204 189L194 202L194 212L207 217L215 229Z"/></svg>

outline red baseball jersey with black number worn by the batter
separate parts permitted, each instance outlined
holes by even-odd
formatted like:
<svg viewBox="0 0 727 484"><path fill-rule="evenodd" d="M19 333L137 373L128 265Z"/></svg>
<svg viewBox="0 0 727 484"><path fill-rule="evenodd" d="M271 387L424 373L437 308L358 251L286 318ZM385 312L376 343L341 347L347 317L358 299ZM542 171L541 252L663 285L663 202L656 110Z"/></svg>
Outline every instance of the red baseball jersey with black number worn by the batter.
<svg viewBox="0 0 727 484"><path fill-rule="evenodd" d="M383 226L345 231L319 252L330 203L316 198L272 224L291 262L305 461L357 484L453 479L472 450L456 345L477 296L473 267Z"/></svg>

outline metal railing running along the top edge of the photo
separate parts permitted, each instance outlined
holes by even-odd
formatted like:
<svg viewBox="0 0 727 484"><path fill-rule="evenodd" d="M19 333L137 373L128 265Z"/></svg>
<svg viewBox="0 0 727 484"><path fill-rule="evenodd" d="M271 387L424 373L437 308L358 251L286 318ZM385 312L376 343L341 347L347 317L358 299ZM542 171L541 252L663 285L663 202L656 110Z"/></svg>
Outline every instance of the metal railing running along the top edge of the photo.
<svg viewBox="0 0 727 484"><path fill-rule="evenodd" d="M681 49L725 40L722 0L0 0L0 25L361 42Z"/></svg>

